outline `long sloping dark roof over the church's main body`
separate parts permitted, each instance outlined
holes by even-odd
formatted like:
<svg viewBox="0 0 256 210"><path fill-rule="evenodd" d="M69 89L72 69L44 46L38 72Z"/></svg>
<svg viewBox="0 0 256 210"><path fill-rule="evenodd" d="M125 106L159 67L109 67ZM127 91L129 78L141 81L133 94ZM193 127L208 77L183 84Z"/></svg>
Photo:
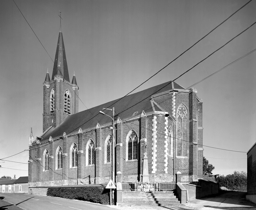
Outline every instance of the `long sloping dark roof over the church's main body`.
<svg viewBox="0 0 256 210"><path fill-rule="evenodd" d="M118 101L119 99L116 99L114 101L101 104L99 106L90 108L88 110L84 110L76 114L72 114L66 117L66 119L56 128L51 127L48 131L46 131L41 136L42 140L40 141L42 142L42 141L49 140L50 136L53 139L60 138L63 136L64 132L67 135L75 134L75 133L78 133L79 128L81 128L82 130L92 129L96 127L97 123L99 123L100 126L111 124L112 119L110 117L99 114L99 111L101 111L102 108L114 107L115 114L117 114L121 120L122 119L127 120L134 117L133 114L135 112L138 112L137 115L140 115L143 110L145 111L145 113L153 112L154 110L150 102L150 98L152 95L155 95L156 93L162 93L172 89L184 90L182 86L178 85L175 82L173 82L173 86L172 86L172 83L170 84L169 83L170 82L166 82L166 83L148 88L146 90L133 93L131 95L124 97L120 101ZM155 108L155 111L162 111L157 106L154 106L154 108ZM112 112L110 110L105 110L104 112L112 116ZM93 116L95 115L97 116L93 118Z"/></svg>

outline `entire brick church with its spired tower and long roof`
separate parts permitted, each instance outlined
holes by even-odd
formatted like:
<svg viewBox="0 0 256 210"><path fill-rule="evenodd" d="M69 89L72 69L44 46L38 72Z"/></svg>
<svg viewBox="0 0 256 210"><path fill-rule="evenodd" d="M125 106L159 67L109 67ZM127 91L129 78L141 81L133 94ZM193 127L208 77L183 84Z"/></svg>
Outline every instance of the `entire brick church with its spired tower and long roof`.
<svg viewBox="0 0 256 210"><path fill-rule="evenodd" d="M60 30L52 78L43 82L43 134L29 137L29 186L122 181L182 182L203 177L202 100L197 90L166 82L78 112L78 85L69 80ZM112 119L100 115L114 107ZM108 109L103 111L112 116ZM146 163L143 166L143 161ZM145 180L145 179L144 179Z"/></svg>

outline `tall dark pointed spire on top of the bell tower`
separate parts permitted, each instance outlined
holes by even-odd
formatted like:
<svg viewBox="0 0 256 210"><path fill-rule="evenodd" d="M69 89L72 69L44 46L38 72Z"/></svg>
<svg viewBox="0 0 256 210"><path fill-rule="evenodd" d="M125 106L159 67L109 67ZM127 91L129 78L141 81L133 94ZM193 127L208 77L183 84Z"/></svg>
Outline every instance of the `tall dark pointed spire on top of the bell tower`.
<svg viewBox="0 0 256 210"><path fill-rule="evenodd" d="M59 32L58 44L57 44L57 49L56 49L56 54L54 59L52 80L54 80L54 77L56 75L63 77L66 81L69 82L68 65L67 65L66 52L65 52L61 28Z"/></svg>

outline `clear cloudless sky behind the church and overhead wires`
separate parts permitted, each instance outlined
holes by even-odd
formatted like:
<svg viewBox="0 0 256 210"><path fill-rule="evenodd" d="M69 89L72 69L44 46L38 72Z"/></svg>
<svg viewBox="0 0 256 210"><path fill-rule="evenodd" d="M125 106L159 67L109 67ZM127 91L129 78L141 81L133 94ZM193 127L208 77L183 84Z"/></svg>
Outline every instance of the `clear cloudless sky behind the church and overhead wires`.
<svg viewBox="0 0 256 210"><path fill-rule="evenodd" d="M79 111L120 98L243 6L245 0L15 0L54 59L60 28ZM178 77L256 21L253 0L136 91ZM180 77L187 88L256 48L256 25ZM43 81L53 62L13 1L0 1L0 159L42 134ZM247 170L256 142L256 52L195 85L203 99L204 156L214 174ZM210 146L210 147L206 147ZM6 160L27 163L28 151ZM4 163L1 163L4 162ZM0 177L27 176L27 164L1 161ZM10 168L10 169L5 169Z"/></svg>

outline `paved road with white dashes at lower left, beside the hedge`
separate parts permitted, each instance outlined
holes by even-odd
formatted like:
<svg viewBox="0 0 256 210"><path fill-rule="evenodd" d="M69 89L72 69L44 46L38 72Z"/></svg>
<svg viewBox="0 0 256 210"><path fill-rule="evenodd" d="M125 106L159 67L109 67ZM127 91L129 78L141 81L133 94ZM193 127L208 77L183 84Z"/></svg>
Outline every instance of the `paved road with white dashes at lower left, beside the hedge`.
<svg viewBox="0 0 256 210"><path fill-rule="evenodd" d="M20 193L0 193L0 210L18 210L17 207L25 210L113 210L108 206L85 201Z"/></svg>

